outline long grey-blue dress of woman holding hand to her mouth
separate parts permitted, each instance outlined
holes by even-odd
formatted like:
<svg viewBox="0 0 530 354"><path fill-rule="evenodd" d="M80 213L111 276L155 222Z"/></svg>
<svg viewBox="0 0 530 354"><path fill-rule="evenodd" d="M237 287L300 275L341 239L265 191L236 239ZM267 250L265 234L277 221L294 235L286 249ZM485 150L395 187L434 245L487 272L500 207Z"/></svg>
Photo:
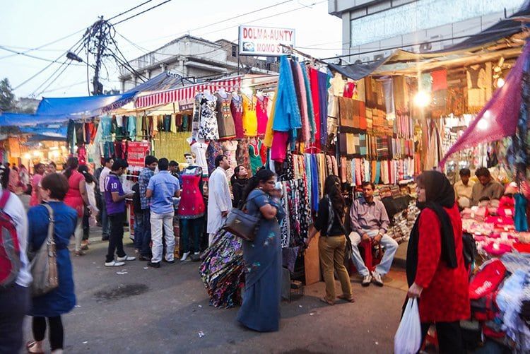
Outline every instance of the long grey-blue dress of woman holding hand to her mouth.
<svg viewBox="0 0 530 354"><path fill-rule="evenodd" d="M243 258L247 274L243 304L237 321L254 331L278 331L281 301L281 235L279 220L283 209L259 189L248 196L247 213L261 216L265 204L278 208L276 218L261 217L254 242L243 241Z"/></svg>

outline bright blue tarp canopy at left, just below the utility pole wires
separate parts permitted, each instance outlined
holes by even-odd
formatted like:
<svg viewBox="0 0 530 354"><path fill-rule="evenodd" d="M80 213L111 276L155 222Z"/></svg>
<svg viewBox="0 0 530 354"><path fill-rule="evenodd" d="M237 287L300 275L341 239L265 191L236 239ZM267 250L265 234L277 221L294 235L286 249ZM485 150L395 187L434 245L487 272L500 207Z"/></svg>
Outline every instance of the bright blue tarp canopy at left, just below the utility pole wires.
<svg viewBox="0 0 530 354"><path fill-rule="evenodd" d="M136 91L121 95L98 95L66 98L42 98L37 114L100 114L125 105L136 95Z"/></svg>

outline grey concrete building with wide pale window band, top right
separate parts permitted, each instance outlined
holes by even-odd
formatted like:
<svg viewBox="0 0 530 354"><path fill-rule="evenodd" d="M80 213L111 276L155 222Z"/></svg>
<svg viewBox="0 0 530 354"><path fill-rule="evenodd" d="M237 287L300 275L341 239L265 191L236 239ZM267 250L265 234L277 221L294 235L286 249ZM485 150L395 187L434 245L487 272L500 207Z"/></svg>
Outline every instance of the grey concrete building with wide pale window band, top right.
<svg viewBox="0 0 530 354"><path fill-rule="evenodd" d="M329 0L342 19L346 64L411 52L444 49L511 16L524 0Z"/></svg>

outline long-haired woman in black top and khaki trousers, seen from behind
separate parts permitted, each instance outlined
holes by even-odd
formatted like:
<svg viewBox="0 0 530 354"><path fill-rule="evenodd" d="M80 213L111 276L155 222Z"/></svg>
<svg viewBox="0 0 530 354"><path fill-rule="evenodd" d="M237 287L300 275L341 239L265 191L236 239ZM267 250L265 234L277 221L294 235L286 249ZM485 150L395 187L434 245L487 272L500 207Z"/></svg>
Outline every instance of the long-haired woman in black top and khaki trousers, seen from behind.
<svg viewBox="0 0 530 354"><path fill-rule="evenodd" d="M351 292L350 276L344 266L344 251L346 249L346 230L343 226L344 209L346 202L341 194L341 181L337 176L331 175L324 182L324 198L319 202L317 221L310 230L307 244L317 232L319 238L319 256L326 283L326 296L320 299L328 305L335 303L335 277L334 271L341 281L342 295L338 298L354 302Z"/></svg>

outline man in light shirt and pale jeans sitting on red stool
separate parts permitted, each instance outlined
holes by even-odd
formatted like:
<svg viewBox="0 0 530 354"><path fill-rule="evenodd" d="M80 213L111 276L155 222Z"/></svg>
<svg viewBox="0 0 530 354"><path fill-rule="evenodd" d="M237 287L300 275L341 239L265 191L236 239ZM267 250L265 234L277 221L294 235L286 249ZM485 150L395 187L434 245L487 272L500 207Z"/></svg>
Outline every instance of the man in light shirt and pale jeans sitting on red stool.
<svg viewBox="0 0 530 354"><path fill-rule="evenodd" d="M389 218L382 201L374 200L374 189L373 183L364 182L364 198L353 201L350 212L352 260L355 268L363 276L363 286L370 285L372 281L375 285L383 286L382 276L390 270L398 247L397 242L386 233L390 223ZM359 253L358 245L361 240L372 240L372 244L380 243L384 247L383 259L371 276Z"/></svg>

